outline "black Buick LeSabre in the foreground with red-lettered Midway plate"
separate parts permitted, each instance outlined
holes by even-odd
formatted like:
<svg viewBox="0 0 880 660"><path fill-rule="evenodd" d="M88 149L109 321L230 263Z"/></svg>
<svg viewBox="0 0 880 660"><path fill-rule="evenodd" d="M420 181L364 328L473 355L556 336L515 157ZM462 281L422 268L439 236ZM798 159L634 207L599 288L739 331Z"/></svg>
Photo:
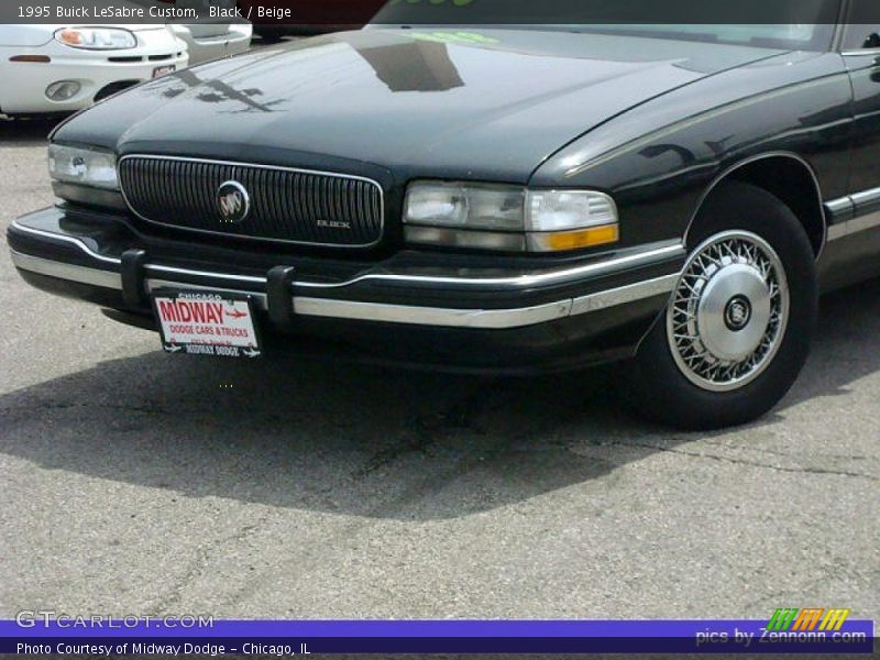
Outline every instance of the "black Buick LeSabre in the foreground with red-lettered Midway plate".
<svg viewBox="0 0 880 660"><path fill-rule="evenodd" d="M872 1L564 28L393 3L61 125L59 202L12 260L170 352L622 360L649 416L745 422L798 377L820 293L880 270L880 25L847 14Z"/></svg>

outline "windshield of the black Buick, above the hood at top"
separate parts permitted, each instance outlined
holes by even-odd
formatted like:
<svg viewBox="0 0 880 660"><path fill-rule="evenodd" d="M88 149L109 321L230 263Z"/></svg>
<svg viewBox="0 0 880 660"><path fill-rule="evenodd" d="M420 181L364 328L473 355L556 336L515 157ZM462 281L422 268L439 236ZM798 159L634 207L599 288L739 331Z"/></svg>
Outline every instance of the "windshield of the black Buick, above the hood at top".
<svg viewBox="0 0 880 660"><path fill-rule="evenodd" d="M842 0L392 0L384 25L484 25L824 51Z"/></svg>

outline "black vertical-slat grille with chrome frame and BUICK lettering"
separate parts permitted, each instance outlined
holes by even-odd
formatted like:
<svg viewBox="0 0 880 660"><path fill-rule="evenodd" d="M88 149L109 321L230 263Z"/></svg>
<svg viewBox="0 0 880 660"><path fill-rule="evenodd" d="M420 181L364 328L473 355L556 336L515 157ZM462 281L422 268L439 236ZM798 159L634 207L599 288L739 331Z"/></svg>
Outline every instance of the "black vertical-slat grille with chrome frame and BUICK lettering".
<svg viewBox="0 0 880 660"><path fill-rule="evenodd" d="M383 196L373 180L244 163L124 156L122 194L141 219L215 234L305 245L366 248L382 239ZM251 210L224 222L219 188L238 182Z"/></svg>

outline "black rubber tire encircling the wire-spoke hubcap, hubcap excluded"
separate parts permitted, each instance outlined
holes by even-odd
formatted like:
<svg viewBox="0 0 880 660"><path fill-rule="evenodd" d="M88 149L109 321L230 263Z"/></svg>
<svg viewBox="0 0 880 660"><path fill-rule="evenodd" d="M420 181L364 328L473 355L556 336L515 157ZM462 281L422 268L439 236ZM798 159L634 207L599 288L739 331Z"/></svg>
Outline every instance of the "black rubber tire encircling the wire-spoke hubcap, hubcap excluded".
<svg viewBox="0 0 880 660"><path fill-rule="evenodd" d="M698 376L688 369L681 352L675 355L675 340L669 339L668 309L628 364L625 403L637 415L686 430L747 424L785 396L806 362L816 322L818 288L815 254L803 226L788 206L766 190L729 183L712 194L694 222L688 237L691 258L696 260L698 248L728 231L748 232L762 239L784 270L788 321L772 342L774 352L768 350L762 370L756 369L757 375L750 382L743 378L741 386L727 384L736 388L718 392L711 389L713 383L708 381L695 384L694 377ZM723 318L728 322L726 312Z"/></svg>

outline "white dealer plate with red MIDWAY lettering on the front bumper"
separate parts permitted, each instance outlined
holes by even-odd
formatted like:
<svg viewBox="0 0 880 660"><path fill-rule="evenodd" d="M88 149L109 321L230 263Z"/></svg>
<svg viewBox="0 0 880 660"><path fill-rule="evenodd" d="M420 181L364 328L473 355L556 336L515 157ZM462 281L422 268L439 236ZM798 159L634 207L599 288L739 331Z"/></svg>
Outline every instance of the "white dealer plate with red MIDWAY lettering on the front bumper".
<svg viewBox="0 0 880 660"><path fill-rule="evenodd" d="M258 358L260 337L246 296L209 290L157 290L153 309L168 353Z"/></svg>

